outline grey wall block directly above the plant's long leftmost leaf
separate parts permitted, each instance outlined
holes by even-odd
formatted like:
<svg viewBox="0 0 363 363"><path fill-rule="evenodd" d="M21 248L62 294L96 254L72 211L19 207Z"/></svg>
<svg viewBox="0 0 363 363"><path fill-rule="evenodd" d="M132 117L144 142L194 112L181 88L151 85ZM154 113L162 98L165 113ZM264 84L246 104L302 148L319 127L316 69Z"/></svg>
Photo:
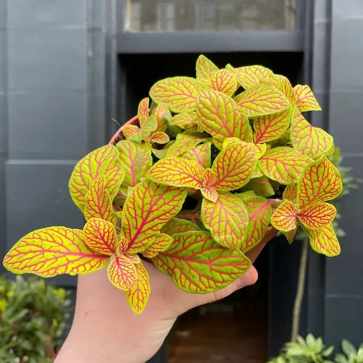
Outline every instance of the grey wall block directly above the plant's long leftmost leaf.
<svg viewBox="0 0 363 363"><path fill-rule="evenodd" d="M70 199L68 180L74 163L52 160L6 164L7 246L37 228L83 227L83 215Z"/></svg>

